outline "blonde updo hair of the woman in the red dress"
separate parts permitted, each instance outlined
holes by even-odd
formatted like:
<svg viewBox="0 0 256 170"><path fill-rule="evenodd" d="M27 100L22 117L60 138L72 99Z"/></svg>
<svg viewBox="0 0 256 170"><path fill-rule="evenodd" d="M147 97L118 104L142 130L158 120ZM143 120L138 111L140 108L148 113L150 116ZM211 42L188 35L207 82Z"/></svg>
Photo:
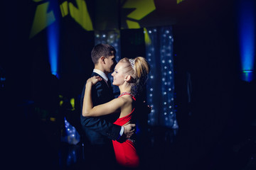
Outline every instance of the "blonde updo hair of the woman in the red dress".
<svg viewBox="0 0 256 170"><path fill-rule="evenodd" d="M129 74L131 79L129 83L132 84L132 94L135 96L142 91L146 83L147 75L149 74L149 63L144 57L136 57L134 59L123 58L119 62L126 63L123 67L123 72Z"/></svg>

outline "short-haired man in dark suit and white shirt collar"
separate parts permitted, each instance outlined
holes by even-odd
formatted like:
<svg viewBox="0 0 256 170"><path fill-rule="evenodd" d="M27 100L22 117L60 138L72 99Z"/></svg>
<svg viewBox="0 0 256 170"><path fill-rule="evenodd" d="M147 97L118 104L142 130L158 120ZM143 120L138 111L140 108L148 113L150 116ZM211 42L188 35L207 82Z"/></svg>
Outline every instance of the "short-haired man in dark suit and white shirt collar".
<svg viewBox="0 0 256 170"><path fill-rule="evenodd" d="M113 72L114 65L116 64L115 53L116 50L111 45L99 44L92 49L91 57L92 62L95 64L92 77L100 76L103 80L97 82L92 87L93 106L107 103L114 99L112 86L107 74ZM84 96L85 86L82 90L80 101L81 111ZM134 124L124 127L112 124L117 118L119 118L118 113L93 118L84 117L81 113L82 128L85 130L87 140L90 141L90 147L87 147L87 150L85 150L85 157L87 157L87 162L90 163L91 169L101 169L106 166L108 168L114 167L115 158L112 140L128 138L134 133Z"/></svg>

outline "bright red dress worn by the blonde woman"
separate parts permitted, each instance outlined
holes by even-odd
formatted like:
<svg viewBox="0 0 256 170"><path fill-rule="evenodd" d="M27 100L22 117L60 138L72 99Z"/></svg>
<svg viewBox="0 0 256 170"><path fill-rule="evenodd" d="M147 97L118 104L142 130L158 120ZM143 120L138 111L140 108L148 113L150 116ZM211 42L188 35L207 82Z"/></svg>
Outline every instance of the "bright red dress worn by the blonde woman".
<svg viewBox="0 0 256 170"><path fill-rule="evenodd" d="M125 95L125 94L123 94ZM121 95L121 96L123 96ZM131 94L129 94L131 95ZM132 95L131 95L132 96ZM119 96L120 97L120 96ZM135 100L134 96L132 98ZM134 113L134 109L132 110L132 113L129 113L129 115L126 115L122 118L118 118L114 124L115 125L124 125L129 122L129 120L132 119L132 115ZM117 142L116 140L112 140L113 146L114 146L114 154L117 159L117 163L122 166L127 167L137 167L139 166L139 157L137 154L137 151L134 147L134 142L132 140L126 140L125 142Z"/></svg>

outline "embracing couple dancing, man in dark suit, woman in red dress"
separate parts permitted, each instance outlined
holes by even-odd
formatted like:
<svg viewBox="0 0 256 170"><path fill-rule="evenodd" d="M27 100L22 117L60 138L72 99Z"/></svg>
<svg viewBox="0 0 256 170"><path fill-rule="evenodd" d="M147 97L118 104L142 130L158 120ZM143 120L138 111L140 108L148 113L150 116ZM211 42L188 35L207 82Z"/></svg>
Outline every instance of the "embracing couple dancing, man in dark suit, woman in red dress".
<svg viewBox="0 0 256 170"><path fill-rule="evenodd" d="M90 149L85 150L89 169L139 167L134 129L141 103L136 96L145 84L149 64L144 57L123 58L116 63L115 53L111 45L99 44L92 49L95 69L82 90L80 119L90 141ZM114 98L107 77L111 72L112 84L119 87L118 98Z"/></svg>

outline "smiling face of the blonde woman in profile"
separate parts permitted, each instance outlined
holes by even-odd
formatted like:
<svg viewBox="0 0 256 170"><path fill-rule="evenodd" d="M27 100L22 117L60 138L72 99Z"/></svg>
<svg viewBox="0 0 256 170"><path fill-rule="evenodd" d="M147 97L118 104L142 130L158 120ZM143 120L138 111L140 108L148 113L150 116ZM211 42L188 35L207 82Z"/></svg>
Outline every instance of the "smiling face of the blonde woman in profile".
<svg viewBox="0 0 256 170"><path fill-rule="evenodd" d="M119 86L124 84L124 74L123 74L124 62L118 62L116 67L114 67L114 72L111 74L113 77L113 85Z"/></svg>

